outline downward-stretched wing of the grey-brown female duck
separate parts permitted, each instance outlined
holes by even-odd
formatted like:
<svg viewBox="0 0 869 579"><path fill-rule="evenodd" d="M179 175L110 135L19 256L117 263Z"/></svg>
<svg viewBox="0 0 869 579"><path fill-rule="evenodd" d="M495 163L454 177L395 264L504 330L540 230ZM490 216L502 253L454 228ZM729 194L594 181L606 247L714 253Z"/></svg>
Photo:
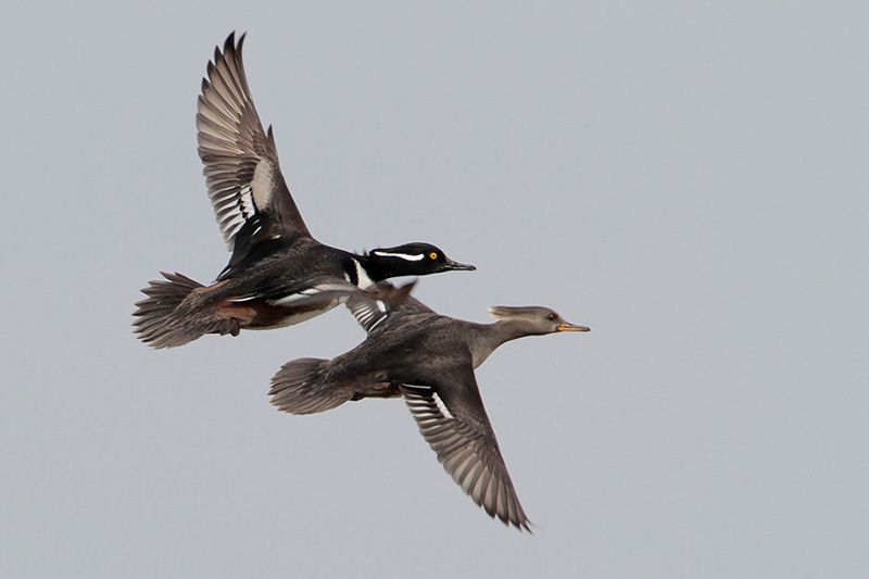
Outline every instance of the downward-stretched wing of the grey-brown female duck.
<svg viewBox="0 0 869 579"><path fill-rule="evenodd" d="M401 393L423 437L462 490L491 517L530 531L470 361L440 373L430 386L402 385Z"/></svg>

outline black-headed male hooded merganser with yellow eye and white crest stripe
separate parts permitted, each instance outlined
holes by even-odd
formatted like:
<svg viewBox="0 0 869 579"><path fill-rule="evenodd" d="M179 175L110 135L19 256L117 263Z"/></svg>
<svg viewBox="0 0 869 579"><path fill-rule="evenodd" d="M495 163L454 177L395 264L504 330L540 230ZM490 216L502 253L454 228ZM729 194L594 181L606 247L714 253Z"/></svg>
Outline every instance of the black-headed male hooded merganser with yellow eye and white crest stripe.
<svg viewBox="0 0 869 579"><path fill-rule="evenodd" d="M181 274L152 280L134 313L135 332L153 348L173 348L205 333L298 324L340 300L298 304L336 284L366 288L395 276L427 275L473 265L454 262L429 243L354 254L315 240L278 166L272 127L253 105L241 49L244 35L215 49L202 80L197 129L209 198L232 255L214 284Z"/></svg>

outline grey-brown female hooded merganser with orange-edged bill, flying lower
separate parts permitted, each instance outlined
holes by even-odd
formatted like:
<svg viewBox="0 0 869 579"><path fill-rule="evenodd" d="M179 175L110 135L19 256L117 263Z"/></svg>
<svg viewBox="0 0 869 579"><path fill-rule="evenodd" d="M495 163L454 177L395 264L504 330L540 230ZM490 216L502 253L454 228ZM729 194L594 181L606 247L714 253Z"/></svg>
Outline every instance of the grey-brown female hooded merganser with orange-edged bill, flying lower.
<svg viewBox="0 0 869 579"><path fill-rule="evenodd" d="M505 525L530 530L480 398L474 369L502 343L524 336L589 331L549 307L491 307L494 324L439 315L410 287L379 284L347 302L368 333L331 361L288 362L272 379L272 404L291 414L323 412L364 398L404 398L438 461L470 498Z"/></svg>

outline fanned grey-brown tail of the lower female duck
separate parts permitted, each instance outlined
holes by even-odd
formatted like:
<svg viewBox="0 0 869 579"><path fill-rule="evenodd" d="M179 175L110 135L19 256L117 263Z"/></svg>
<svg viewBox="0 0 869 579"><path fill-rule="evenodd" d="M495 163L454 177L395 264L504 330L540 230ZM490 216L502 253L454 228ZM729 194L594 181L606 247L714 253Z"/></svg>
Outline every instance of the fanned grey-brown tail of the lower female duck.
<svg viewBox="0 0 869 579"><path fill-rule="evenodd" d="M352 390L328 379L329 362L303 357L285 364L272 378L272 404L290 414L314 414L349 401Z"/></svg>

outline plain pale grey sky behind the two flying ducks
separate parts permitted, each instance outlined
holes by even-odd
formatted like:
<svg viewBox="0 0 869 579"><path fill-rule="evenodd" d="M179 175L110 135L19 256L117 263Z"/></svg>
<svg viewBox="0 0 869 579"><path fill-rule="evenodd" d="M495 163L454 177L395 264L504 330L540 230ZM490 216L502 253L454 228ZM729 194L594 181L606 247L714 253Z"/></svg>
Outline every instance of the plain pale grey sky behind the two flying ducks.
<svg viewBox="0 0 869 579"><path fill-rule="evenodd" d="M866 572L864 3L242 4L0 9L0 576ZM343 310L133 338L148 279L228 257L193 117L232 29L320 240L432 241L479 266L432 307L593 328L478 372L534 537L401 401L269 406Z"/></svg>

